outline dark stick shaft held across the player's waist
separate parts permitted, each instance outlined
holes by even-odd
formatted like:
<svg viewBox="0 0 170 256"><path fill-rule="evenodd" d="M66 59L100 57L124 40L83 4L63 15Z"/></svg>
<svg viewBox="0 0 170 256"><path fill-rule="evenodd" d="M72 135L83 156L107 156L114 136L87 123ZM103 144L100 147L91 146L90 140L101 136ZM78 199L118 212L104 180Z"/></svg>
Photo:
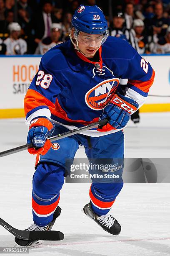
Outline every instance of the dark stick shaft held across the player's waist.
<svg viewBox="0 0 170 256"><path fill-rule="evenodd" d="M76 128L74 130L70 130L70 131L67 131L65 133L61 133L61 134L55 135L53 137L50 137L49 140L51 142L52 141L57 141L57 140L60 140L61 138L66 138L68 136L72 136L74 134L80 133L81 131L87 131L89 129L96 128L97 126L103 126L107 122L108 122L107 119L103 119L103 120L100 120L100 121L95 122L95 123L90 123L90 125L85 125L83 127ZM32 144L25 144L23 146L19 146L19 147L16 147L16 148L11 148L11 149L8 149L6 151L0 152L0 157L11 155L13 153L17 153L17 152L20 152L20 151L23 151L27 148L32 148L32 147L34 147Z"/></svg>

